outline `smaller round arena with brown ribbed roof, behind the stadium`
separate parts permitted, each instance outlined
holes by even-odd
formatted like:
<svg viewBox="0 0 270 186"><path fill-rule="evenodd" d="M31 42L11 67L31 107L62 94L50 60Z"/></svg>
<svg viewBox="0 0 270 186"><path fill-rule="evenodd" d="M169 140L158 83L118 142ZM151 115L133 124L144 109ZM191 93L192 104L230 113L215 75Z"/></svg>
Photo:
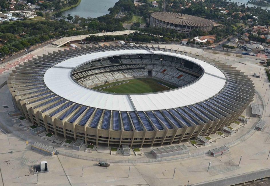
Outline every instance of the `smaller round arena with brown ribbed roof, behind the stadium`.
<svg viewBox="0 0 270 186"><path fill-rule="evenodd" d="M174 12L154 12L150 16L150 26L164 27L188 34L193 29L208 32L213 29L213 22L193 15Z"/></svg>

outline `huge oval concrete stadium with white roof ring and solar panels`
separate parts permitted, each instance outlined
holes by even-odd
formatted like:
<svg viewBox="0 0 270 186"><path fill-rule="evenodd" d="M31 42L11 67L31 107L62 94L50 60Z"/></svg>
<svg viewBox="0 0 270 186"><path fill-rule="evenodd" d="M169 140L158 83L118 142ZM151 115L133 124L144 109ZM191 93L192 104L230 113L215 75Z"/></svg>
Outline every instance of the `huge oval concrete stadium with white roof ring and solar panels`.
<svg viewBox="0 0 270 186"><path fill-rule="evenodd" d="M87 45L15 67L9 90L23 116L85 143L152 147L207 136L252 101L235 67L161 46Z"/></svg>

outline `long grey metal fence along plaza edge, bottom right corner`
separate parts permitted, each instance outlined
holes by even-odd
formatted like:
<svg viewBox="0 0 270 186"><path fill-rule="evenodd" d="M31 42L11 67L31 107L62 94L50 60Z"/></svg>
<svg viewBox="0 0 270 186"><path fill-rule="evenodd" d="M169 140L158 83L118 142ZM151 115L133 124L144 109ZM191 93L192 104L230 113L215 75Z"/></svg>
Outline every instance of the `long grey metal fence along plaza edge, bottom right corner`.
<svg viewBox="0 0 270 186"><path fill-rule="evenodd" d="M270 176L270 168L260 169L257 171L251 171L241 173L237 175L227 176L223 178L212 179L209 181L203 181L199 183L190 184L190 186L220 186L220 185L235 185L248 181L253 181Z"/></svg>

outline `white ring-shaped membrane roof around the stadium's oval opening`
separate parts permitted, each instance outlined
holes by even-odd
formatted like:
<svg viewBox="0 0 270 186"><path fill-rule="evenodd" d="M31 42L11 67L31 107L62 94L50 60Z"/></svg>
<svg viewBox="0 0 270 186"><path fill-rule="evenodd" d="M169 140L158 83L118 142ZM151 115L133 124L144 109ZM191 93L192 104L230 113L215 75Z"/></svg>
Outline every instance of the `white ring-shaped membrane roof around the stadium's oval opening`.
<svg viewBox="0 0 270 186"><path fill-rule="evenodd" d="M119 95L87 89L71 77L75 67L88 61L115 55L153 53L190 60L200 65L206 73L202 74L195 83L180 89L137 95ZM106 51L70 58L48 69L43 80L52 92L65 99L90 107L117 111L134 111L134 107L137 111L161 110L198 103L216 95L226 82L225 75L219 69L204 61L176 53L147 50Z"/></svg>

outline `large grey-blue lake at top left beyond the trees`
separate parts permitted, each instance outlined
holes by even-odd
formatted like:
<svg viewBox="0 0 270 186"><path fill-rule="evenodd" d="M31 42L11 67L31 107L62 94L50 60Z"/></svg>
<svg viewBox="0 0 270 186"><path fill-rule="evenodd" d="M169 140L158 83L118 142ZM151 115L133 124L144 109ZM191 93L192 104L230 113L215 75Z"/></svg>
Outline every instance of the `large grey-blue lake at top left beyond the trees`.
<svg viewBox="0 0 270 186"><path fill-rule="evenodd" d="M68 14L74 16L79 15L80 17L100 17L108 14L108 9L114 7L114 4L119 0L82 0L81 3L71 9L63 11L63 16Z"/></svg>

